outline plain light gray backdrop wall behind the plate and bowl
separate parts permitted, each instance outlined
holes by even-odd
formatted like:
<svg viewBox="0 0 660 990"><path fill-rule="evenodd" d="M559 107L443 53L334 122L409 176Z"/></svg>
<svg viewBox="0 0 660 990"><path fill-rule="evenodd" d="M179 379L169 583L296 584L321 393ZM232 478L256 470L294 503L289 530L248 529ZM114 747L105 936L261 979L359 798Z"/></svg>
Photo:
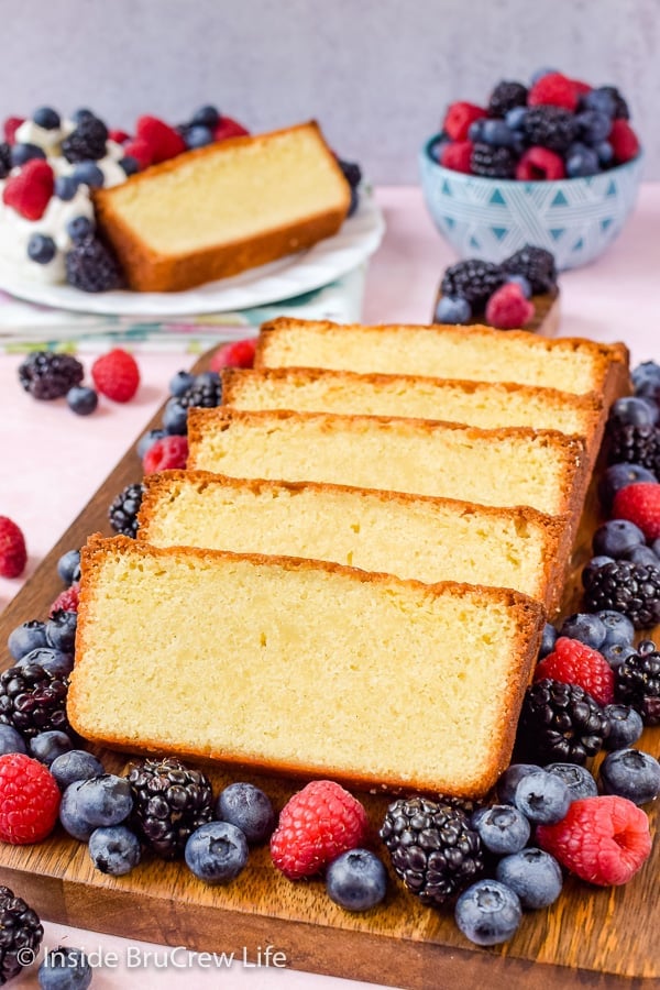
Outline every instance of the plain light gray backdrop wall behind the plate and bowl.
<svg viewBox="0 0 660 990"><path fill-rule="evenodd" d="M0 0L0 16L2 118L316 117L375 182L405 184L448 102L553 66L623 90L660 179L660 0Z"/></svg>

